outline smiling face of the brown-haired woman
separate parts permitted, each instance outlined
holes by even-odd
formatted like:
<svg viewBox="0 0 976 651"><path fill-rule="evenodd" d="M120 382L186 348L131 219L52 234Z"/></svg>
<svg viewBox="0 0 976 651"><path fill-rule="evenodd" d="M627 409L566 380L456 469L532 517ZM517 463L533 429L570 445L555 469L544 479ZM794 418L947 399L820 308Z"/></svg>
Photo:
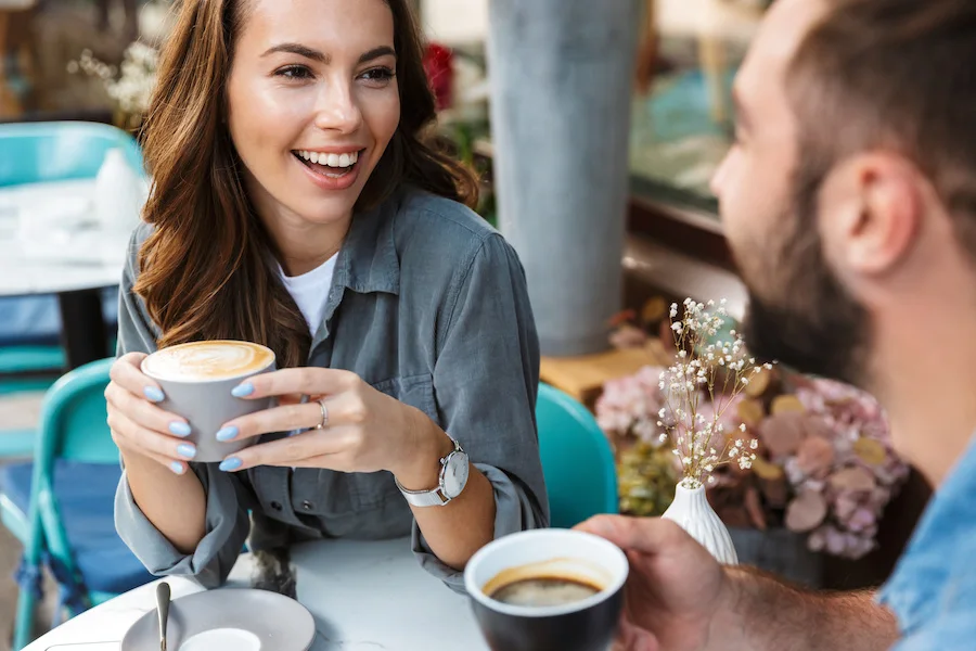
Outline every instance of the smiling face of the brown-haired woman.
<svg viewBox="0 0 976 651"><path fill-rule="evenodd" d="M228 127L265 218L351 215L400 120L384 0L249 4L228 80Z"/></svg>

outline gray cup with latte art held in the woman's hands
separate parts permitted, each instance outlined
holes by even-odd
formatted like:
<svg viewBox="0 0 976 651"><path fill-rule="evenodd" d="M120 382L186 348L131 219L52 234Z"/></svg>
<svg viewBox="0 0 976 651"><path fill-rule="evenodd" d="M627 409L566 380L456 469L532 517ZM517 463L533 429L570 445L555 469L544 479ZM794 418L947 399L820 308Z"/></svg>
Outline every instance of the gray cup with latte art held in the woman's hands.
<svg viewBox="0 0 976 651"><path fill-rule="evenodd" d="M196 446L194 461L219 462L254 445L256 437L221 443L216 434L229 420L267 409L273 398L231 395L241 382L275 369L274 352L235 341L192 342L169 346L142 360L142 372L163 388L159 407L190 423L185 441Z"/></svg>

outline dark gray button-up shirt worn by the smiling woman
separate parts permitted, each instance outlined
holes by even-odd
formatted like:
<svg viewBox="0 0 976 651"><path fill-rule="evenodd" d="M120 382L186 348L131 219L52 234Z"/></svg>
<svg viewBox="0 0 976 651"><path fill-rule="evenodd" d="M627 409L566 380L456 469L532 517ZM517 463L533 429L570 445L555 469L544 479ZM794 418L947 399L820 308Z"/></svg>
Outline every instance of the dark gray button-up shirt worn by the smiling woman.
<svg viewBox="0 0 976 651"><path fill-rule="evenodd" d="M141 226L130 243L119 355L152 353L159 336L132 292L137 253L150 231ZM354 217L322 299L308 366L354 371L457 438L495 488L496 537L547 526L535 424L538 342L525 275L504 239L464 206L404 189ZM258 467L234 474L216 463L190 465L207 494L206 535L191 554L150 523L125 474L119 483L116 526L153 574L217 586L248 533L253 549L412 534L421 565L463 589L461 574L431 551L388 472Z"/></svg>

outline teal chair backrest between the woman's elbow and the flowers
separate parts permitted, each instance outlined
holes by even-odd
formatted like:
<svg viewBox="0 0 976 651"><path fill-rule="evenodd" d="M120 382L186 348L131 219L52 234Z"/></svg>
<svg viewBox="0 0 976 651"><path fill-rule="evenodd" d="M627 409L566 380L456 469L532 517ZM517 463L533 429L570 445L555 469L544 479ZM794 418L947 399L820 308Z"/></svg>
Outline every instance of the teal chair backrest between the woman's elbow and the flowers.
<svg viewBox="0 0 976 651"><path fill-rule="evenodd" d="M572 527L599 513L616 513L614 455L593 414L543 383L536 421L552 526Z"/></svg>

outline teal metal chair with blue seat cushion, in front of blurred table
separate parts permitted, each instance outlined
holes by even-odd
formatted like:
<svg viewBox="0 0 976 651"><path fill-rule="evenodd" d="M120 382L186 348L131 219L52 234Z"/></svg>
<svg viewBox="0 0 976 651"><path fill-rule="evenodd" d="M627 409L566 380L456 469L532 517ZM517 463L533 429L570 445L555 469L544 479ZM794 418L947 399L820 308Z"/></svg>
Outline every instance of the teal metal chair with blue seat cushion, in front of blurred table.
<svg viewBox="0 0 976 651"><path fill-rule="evenodd" d="M115 531L121 470L104 397L112 362L61 378L44 396L34 462L0 470L0 518L24 544L14 650L30 641L42 567L60 585L59 615L153 580Z"/></svg>

